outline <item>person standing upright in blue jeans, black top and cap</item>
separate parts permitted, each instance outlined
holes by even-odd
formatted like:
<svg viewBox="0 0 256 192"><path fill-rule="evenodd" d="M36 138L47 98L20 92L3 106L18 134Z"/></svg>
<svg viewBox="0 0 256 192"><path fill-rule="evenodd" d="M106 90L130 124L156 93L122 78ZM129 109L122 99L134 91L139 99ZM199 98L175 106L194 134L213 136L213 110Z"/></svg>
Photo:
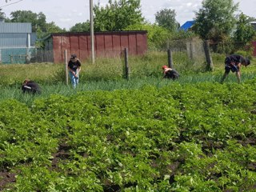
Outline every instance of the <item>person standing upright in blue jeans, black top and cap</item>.
<svg viewBox="0 0 256 192"><path fill-rule="evenodd" d="M78 86L79 82L79 73L81 71L81 62L77 58L76 54L71 54L70 61L68 62L68 70L70 74L70 80L73 88Z"/></svg>

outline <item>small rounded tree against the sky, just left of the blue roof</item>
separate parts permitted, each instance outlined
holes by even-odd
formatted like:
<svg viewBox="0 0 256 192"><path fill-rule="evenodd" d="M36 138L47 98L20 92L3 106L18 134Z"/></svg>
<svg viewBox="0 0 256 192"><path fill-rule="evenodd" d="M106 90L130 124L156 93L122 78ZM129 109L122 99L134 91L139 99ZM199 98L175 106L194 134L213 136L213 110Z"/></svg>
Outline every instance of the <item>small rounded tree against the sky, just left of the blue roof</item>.
<svg viewBox="0 0 256 192"><path fill-rule="evenodd" d="M179 27L179 23L176 21L175 17L175 10L164 9L155 14L155 21L158 23L158 26L162 26L167 30L174 31Z"/></svg>

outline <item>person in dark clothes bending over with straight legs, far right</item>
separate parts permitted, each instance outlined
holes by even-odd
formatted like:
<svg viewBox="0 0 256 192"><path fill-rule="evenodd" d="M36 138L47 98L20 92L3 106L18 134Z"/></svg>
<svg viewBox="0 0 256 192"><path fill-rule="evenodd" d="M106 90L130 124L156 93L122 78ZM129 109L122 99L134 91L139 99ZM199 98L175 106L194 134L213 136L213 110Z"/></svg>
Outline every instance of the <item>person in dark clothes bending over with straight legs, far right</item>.
<svg viewBox="0 0 256 192"><path fill-rule="evenodd" d="M241 66L249 66L250 60L248 58L242 57L242 55L239 54L230 54L230 56L225 58L225 73L222 76L221 83L225 80L226 76L230 73L230 70L232 73L235 72L238 83L241 82L241 72L240 68Z"/></svg>

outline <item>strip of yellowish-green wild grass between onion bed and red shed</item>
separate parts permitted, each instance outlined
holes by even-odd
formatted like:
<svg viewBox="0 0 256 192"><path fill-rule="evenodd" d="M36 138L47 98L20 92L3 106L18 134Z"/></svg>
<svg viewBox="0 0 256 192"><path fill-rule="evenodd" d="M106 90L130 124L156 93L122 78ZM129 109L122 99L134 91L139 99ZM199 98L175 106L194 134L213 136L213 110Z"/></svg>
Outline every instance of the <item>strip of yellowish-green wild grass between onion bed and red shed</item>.
<svg viewBox="0 0 256 192"><path fill-rule="evenodd" d="M150 52L142 56L129 56L130 78L162 76L162 66L167 65L166 52ZM97 58L95 63L82 61L82 81L120 80L124 78L124 57ZM173 54L173 66L180 74L204 71L206 63L192 61L184 52ZM66 81L65 64L38 63L0 65L0 85L23 82L25 78L40 83Z"/></svg>

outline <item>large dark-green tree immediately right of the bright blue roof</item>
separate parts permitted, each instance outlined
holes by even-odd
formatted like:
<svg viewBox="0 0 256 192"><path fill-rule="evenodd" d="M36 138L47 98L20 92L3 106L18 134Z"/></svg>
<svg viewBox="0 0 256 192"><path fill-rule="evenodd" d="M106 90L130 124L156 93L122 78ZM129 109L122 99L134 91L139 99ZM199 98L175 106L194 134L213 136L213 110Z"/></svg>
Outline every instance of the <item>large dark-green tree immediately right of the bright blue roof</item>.
<svg viewBox="0 0 256 192"><path fill-rule="evenodd" d="M202 39L221 42L234 29L237 10L238 3L234 4L233 0L203 0L202 8L195 13L192 30Z"/></svg>

